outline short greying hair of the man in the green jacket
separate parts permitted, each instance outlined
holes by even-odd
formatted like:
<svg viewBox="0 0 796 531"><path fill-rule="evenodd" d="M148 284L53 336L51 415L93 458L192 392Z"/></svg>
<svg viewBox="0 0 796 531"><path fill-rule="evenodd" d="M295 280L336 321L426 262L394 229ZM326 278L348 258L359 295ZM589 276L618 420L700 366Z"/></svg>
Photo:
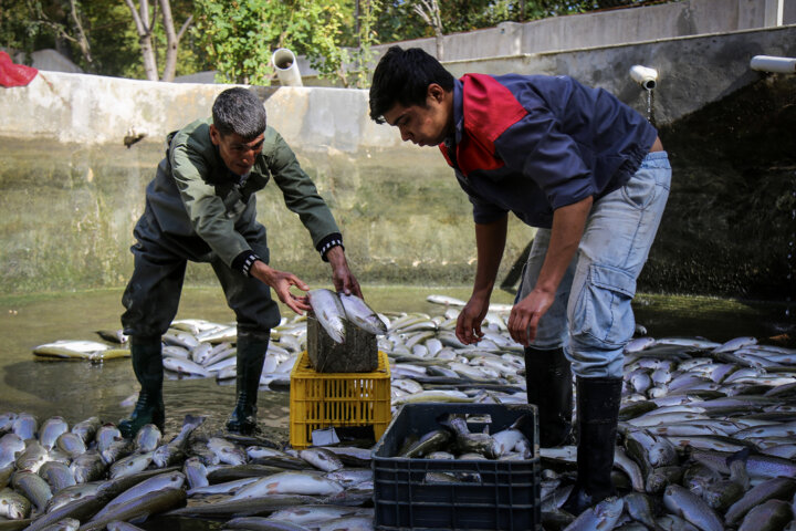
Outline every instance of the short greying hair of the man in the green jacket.
<svg viewBox="0 0 796 531"><path fill-rule="evenodd" d="M221 136L235 133L251 140L265 131L265 107L251 91L241 86L227 88L213 103L213 125Z"/></svg>

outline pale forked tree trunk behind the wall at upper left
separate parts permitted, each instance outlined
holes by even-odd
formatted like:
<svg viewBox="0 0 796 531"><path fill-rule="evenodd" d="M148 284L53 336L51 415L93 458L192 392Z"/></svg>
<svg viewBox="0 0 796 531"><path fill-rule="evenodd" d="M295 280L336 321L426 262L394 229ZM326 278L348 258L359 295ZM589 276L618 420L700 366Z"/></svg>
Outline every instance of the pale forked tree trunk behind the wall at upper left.
<svg viewBox="0 0 796 531"><path fill-rule="evenodd" d="M138 33L138 43L140 44L140 52L144 59L144 72L149 81L158 81L157 56L153 35L157 20L157 6L159 3L167 39L166 66L164 67L163 81L174 81L177 69L179 41L193 20L193 15L190 14L182 23L179 32L176 32L170 0L158 0L158 3L156 3L151 10L149 9L149 0L139 0L137 9L133 0L125 0L125 3L133 14L133 21L135 22L136 32Z"/></svg>

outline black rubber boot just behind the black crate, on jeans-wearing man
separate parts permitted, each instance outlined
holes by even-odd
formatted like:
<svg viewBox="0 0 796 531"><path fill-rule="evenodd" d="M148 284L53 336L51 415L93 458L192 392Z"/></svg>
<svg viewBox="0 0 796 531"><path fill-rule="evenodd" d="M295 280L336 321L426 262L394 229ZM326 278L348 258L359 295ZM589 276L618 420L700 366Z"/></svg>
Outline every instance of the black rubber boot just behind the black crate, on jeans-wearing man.
<svg viewBox="0 0 796 531"><path fill-rule="evenodd" d="M525 347L525 388L528 404L538 407L540 446L569 442L572 436L572 371L563 348Z"/></svg>

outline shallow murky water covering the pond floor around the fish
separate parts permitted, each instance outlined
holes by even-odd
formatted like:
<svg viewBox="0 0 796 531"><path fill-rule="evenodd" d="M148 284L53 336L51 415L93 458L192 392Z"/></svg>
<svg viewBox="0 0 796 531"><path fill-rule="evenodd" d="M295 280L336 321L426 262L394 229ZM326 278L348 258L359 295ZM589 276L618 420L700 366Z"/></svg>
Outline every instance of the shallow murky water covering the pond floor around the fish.
<svg viewBox="0 0 796 531"><path fill-rule="evenodd" d="M440 314L443 306L426 301L432 293L467 299L469 288L366 287L365 296L379 312L405 311ZM61 415L70 424L97 415L117 420L129 406L122 402L138 389L129 360L104 364L42 361L33 356L36 345L55 340L97 340L97 330L118 329L121 290L86 291L0 299L0 412L29 412L40 421ZM499 291L493 302L511 302ZM637 322L656 337L703 336L727 341L740 335L758 339L787 332L785 308L737 301L640 294L635 301ZM283 310L283 315L292 312ZM231 322L218 288L187 288L178 319ZM167 430L178 430L187 413L208 416L209 427L220 427L234 402L234 385L214 379L166 381ZM279 438L286 438L289 395L263 392L260 419Z"/></svg>

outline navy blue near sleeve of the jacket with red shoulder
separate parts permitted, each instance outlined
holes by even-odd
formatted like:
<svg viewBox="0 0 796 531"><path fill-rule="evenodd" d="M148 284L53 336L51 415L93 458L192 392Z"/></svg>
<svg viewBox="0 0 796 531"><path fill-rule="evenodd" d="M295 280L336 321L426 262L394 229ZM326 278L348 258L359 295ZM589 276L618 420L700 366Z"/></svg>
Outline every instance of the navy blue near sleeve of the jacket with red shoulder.
<svg viewBox="0 0 796 531"><path fill-rule="evenodd" d="M527 108L527 107L526 107ZM591 170L578 144L562 132L558 119L541 103L495 140L495 152L510 168L533 179L553 210L595 194Z"/></svg>

